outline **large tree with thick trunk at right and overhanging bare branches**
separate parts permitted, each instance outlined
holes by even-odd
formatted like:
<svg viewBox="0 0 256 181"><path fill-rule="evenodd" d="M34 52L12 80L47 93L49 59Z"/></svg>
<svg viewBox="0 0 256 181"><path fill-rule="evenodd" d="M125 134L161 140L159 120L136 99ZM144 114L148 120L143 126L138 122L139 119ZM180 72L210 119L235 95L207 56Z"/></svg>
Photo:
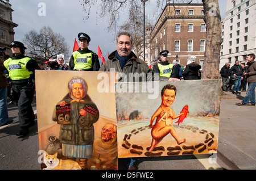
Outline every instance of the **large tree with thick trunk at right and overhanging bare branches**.
<svg viewBox="0 0 256 181"><path fill-rule="evenodd" d="M80 0L83 10L87 13L86 18L89 18L90 7L97 5L97 0ZM163 1L162 1L163 2ZM167 0L167 3L175 3L175 0ZM180 2L180 1L177 1ZM191 3L192 0L183 1L183 3ZM199 2L199 1L197 1ZM220 78L220 46L221 40L221 18L218 6L218 0L202 0L204 6L204 21L207 28L207 39L205 44L204 69L202 79ZM125 11L127 6L139 5L140 0L102 0L100 1L101 8L97 12L99 17L105 18L109 16L109 30L115 30L117 27L119 14ZM136 13L136 11L134 12ZM130 12L131 14L131 12Z"/></svg>

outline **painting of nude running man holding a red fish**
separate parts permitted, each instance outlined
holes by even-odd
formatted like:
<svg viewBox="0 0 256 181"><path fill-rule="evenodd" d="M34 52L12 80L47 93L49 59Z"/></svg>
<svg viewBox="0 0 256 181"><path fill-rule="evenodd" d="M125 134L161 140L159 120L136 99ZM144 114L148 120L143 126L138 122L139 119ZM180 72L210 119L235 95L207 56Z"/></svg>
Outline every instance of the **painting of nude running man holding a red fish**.
<svg viewBox="0 0 256 181"><path fill-rule="evenodd" d="M221 80L148 83L115 85L118 157L217 153Z"/></svg>

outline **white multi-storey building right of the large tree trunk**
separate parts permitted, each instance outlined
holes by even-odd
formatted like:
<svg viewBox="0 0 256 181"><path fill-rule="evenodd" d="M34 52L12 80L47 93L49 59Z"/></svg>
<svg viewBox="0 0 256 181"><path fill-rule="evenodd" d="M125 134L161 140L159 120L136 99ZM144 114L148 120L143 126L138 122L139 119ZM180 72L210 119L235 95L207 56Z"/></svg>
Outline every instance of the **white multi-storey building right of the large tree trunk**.
<svg viewBox="0 0 256 181"><path fill-rule="evenodd" d="M256 0L226 0L220 69L226 62L245 62L247 54L256 53L255 9Z"/></svg>

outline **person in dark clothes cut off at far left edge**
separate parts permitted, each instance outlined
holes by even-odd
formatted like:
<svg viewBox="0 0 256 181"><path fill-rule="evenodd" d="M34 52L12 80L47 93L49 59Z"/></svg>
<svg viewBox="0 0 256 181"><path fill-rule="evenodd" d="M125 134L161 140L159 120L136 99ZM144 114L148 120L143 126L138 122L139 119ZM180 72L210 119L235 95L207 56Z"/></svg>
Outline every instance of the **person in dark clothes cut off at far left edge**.
<svg viewBox="0 0 256 181"><path fill-rule="evenodd" d="M8 109L7 109L7 86L8 81L5 76L6 68L3 65L3 61L0 60L0 127L13 122L9 120Z"/></svg>

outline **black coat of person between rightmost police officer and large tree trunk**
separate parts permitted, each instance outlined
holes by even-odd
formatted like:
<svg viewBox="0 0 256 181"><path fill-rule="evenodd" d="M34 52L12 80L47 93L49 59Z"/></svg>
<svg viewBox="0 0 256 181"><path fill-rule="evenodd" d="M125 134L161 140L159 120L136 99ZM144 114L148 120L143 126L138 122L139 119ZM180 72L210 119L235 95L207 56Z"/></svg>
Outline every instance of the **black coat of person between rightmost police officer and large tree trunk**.
<svg viewBox="0 0 256 181"><path fill-rule="evenodd" d="M199 70L201 69L200 65L197 64L188 64L183 70L182 75L184 76L184 80L196 80L200 79Z"/></svg>

